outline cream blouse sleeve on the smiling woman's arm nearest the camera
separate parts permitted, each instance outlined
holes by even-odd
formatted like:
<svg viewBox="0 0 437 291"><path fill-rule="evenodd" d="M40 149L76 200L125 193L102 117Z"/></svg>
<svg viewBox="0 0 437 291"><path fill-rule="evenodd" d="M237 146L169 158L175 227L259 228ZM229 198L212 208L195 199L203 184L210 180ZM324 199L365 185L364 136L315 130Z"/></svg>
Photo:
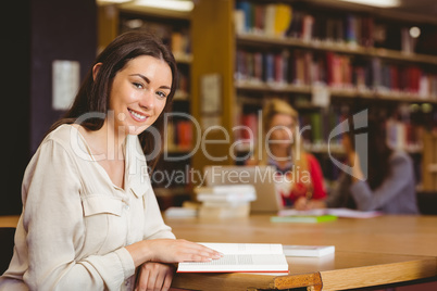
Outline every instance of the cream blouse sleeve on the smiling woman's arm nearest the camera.
<svg viewBox="0 0 437 291"><path fill-rule="evenodd" d="M120 290L135 274L126 249L76 258L86 231L80 179L72 156L52 140L41 144L23 184L24 281L30 290ZM79 242L77 242L79 241Z"/></svg>

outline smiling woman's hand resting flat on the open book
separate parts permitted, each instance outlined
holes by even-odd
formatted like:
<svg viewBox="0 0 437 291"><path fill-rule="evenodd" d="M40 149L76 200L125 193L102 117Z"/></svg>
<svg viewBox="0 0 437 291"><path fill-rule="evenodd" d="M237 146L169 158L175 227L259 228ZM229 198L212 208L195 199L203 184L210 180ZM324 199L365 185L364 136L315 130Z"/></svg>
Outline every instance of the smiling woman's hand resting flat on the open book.
<svg viewBox="0 0 437 291"><path fill-rule="evenodd" d="M202 244L187 240L143 240L126 246L138 267L145 262L179 263L209 262L222 254Z"/></svg>

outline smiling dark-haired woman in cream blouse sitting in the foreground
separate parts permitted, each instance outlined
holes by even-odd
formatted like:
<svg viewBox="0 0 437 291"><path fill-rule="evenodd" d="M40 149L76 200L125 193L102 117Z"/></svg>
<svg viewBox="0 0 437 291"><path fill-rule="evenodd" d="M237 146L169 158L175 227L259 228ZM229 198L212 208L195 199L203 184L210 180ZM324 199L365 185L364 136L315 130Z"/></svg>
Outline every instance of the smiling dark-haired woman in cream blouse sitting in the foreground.
<svg viewBox="0 0 437 291"><path fill-rule="evenodd" d="M171 51L146 33L118 36L97 58L26 168L0 290L168 290L173 263L221 256L175 239L147 170L176 76Z"/></svg>

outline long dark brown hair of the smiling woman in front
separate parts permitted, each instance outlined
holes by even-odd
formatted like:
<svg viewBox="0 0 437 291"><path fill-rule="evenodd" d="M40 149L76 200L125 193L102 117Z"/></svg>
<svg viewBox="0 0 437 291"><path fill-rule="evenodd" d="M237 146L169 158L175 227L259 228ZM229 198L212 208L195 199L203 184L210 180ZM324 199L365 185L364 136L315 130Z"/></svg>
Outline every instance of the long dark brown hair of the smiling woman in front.
<svg viewBox="0 0 437 291"><path fill-rule="evenodd" d="M176 90L177 66L171 50L159 38L146 31L128 31L120 35L97 56L79 88L73 105L60 121L51 126L49 132L62 124L75 123L86 113L103 113L105 116L109 111L109 98L115 75L127 62L140 55L150 55L163 60L172 69L171 92L167 96L164 110L152 125L154 129L162 134L165 122L164 114L171 111L173 96ZM93 79L92 67L98 63L102 63L102 65L96 79ZM80 125L88 130L98 130L103 126L103 122L104 118L87 118L80 122ZM164 135L160 135L161 140L158 144L151 131L152 126L138 136L146 156L153 151L155 152L157 147L160 147L159 153L162 152L163 148ZM151 168L155 166L159 154L154 156L148 161Z"/></svg>

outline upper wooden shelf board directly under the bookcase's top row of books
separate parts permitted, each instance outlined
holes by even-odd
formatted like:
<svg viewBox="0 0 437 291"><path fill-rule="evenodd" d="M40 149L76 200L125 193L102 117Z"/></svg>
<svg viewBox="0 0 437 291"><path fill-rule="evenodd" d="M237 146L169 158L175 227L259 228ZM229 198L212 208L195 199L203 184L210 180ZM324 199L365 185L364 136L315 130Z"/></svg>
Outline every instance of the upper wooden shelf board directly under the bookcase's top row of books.
<svg viewBox="0 0 437 291"><path fill-rule="evenodd" d="M347 53L363 56L377 56L387 60L425 63L437 65L437 55L403 53L397 50L388 50L382 48L365 48L360 46L351 46L346 42L332 41L304 41L298 38L279 38L265 35L245 34L237 35L238 45L250 46L273 46L273 47L292 47L311 50L333 51L338 53Z"/></svg>

